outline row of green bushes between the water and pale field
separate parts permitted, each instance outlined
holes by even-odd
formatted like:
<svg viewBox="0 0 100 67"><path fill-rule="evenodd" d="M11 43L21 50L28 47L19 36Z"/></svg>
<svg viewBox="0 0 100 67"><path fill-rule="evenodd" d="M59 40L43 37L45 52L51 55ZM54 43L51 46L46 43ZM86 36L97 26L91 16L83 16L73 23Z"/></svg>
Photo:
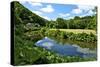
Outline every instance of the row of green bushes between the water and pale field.
<svg viewBox="0 0 100 67"><path fill-rule="evenodd" d="M60 39L70 39L70 40L77 40L82 42L96 42L97 36L93 33L78 33L74 34L72 32L63 32L59 30L49 30L48 37L56 37Z"/></svg>

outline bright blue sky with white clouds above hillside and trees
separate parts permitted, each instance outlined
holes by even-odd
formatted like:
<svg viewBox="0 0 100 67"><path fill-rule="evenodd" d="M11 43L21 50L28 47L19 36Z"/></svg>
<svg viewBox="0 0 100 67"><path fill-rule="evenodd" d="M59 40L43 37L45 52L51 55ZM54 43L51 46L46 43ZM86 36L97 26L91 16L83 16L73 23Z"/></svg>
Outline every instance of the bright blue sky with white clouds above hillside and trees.
<svg viewBox="0 0 100 67"><path fill-rule="evenodd" d="M89 5L39 3L31 1L22 1L20 3L33 13L47 20L56 20L57 18L72 19L75 16L84 17L95 14L92 11L95 6Z"/></svg>

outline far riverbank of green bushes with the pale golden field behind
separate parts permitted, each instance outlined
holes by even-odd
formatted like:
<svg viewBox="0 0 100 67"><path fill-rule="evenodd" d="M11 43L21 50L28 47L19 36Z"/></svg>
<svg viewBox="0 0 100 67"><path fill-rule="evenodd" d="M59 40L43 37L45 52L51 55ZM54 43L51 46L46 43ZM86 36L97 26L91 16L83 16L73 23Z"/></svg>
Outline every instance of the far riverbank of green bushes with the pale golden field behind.
<svg viewBox="0 0 100 67"><path fill-rule="evenodd" d="M75 32L74 32L75 31ZM77 31L77 32L76 32ZM84 32L82 32L84 31ZM77 34L76 34L77 33ZM73 29L50 29L45 32L45 36L59 39L69 39L82 42L96 42L97 36L93 30L73 30Z"/></svg>

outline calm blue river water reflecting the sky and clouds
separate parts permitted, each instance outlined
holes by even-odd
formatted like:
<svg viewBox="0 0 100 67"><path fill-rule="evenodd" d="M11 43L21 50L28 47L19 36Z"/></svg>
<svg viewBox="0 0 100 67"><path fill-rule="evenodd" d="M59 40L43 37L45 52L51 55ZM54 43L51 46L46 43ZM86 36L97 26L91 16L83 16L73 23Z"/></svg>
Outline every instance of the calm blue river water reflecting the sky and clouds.
<svg viewBox="0 0 100 67"><path fill-rule="evenodd" d="M77 44L57 42L48 37L43 38L35 43L36 46L46 48L62 56L80 56L83 58L96 58L96 49L90 50L89 48L82 48Z"/></svg>

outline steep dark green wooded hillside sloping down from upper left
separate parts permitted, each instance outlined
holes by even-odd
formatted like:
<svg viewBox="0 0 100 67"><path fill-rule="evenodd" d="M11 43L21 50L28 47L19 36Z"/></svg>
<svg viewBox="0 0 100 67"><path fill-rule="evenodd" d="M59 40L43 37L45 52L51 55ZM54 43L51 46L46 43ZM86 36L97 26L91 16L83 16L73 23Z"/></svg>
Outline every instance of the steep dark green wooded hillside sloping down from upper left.
<svg viewBox="0 0 100 67"><path fill-rule="evenodd" d="M36 15L35 13L32 13L30 10L28 10L26 7L21 5L19 2L14 1L12 3L14 4L14 8L12 8L12 11L14 12L14 15L18 18L18 20L20 20L20 23L23 24L37 23L41 26L44 26L45 22L47 22L47 20Z"/></svg>

